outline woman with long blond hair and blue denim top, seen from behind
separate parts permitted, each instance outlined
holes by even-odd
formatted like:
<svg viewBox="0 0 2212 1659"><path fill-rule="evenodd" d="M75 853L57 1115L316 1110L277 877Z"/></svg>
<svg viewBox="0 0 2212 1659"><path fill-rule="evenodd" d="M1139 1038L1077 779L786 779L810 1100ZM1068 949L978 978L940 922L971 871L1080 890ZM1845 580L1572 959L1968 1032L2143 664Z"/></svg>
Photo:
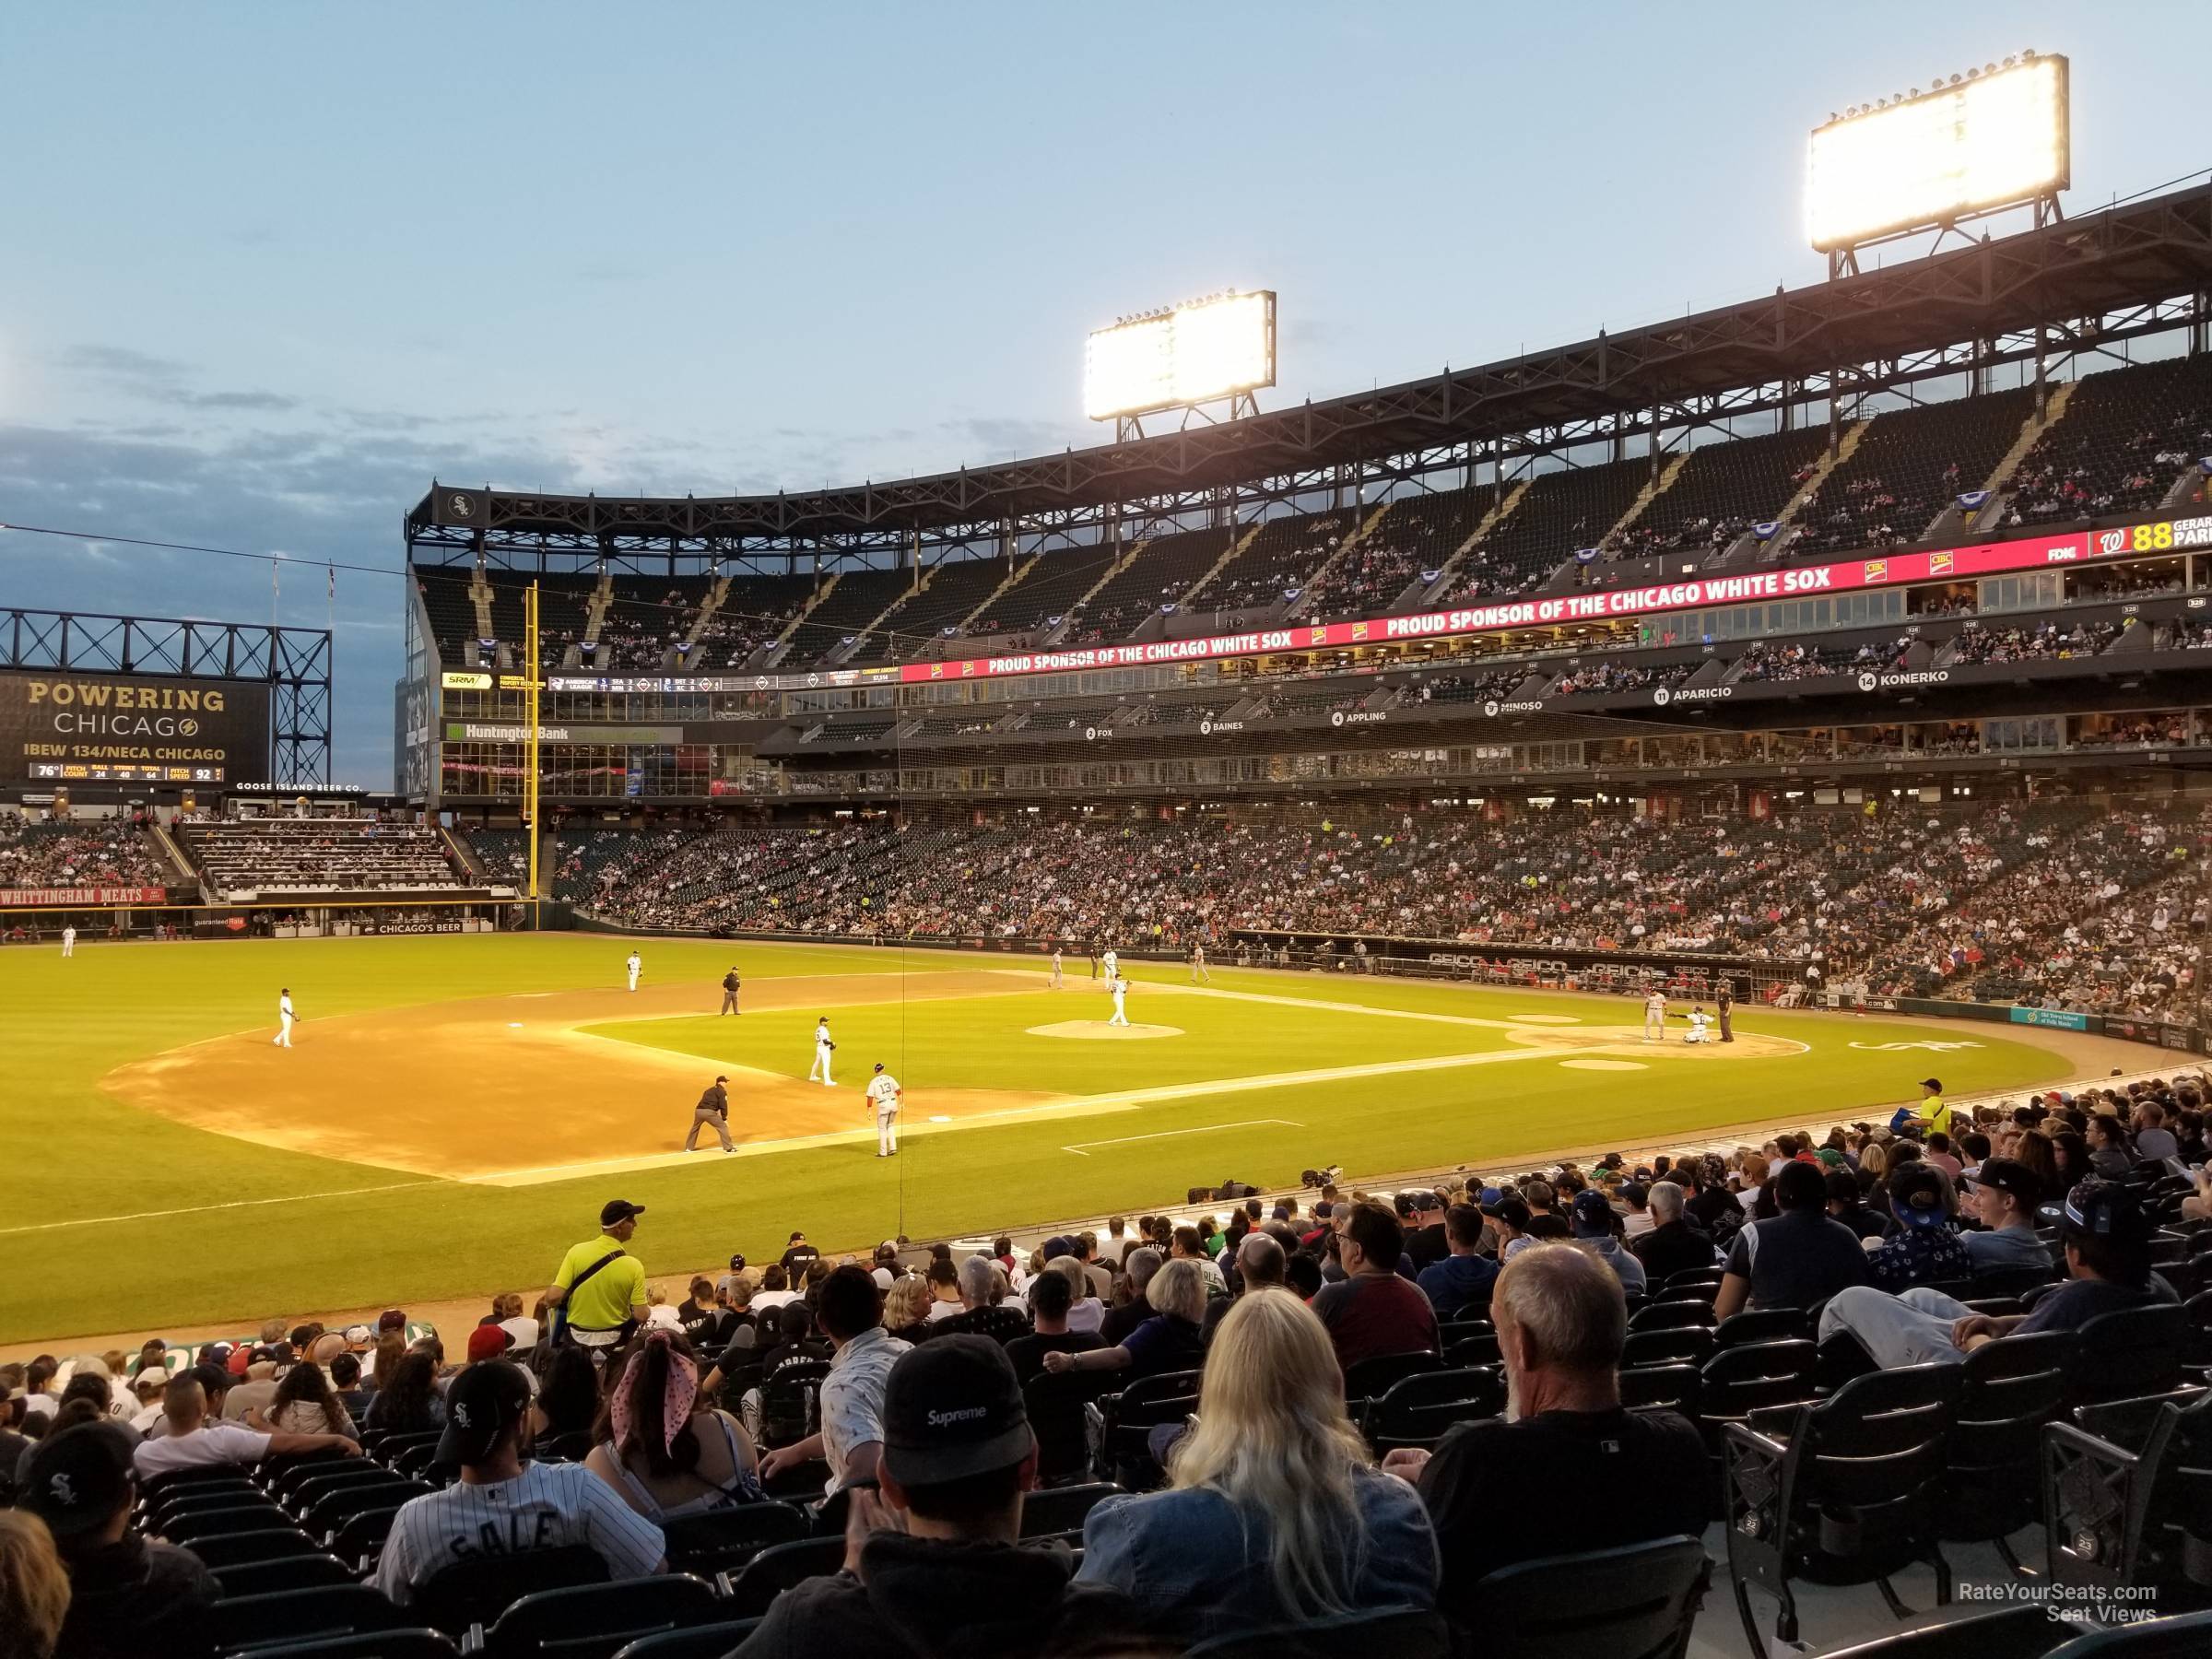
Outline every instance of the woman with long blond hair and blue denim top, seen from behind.
<svg viewBox="0 0 2212 1659"><path fill-rule="evenodd" d="M1429 1515L1374 1467L1352 1427L1321 1318L1296 1296L1256 1290L1214 1329L1168 1489L1093 1509L1075 1577L1203 1641L1363 1608L1427 1608L1436 1575Z"/></svg>

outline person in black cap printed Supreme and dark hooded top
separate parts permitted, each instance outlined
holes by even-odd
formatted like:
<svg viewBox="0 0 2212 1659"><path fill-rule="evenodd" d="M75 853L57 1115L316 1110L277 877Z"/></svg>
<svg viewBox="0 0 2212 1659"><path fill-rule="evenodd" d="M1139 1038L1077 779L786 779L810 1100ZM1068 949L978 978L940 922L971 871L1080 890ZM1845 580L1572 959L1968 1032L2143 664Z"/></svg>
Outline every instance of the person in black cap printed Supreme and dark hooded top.
<svg viewBox="0 0 2212 1659"><path fill-rule="evenodd" d="M1022 1659L1133 1626L1124 1597L1071 1584L1066 1553L1020 1546L1037 1442L998 1343L942 1336L900 1354L880 1436L880 1495L852 1493L845 1568L779 1595L737 1655Z"/></svg>

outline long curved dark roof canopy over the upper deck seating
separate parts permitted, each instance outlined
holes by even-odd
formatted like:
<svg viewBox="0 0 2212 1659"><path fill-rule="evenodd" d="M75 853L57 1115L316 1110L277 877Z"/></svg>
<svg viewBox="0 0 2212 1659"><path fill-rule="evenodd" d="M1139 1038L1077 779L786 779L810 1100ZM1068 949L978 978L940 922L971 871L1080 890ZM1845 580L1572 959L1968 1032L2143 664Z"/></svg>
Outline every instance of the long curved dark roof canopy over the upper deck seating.
<svg viewBox="0 0 2212 1659"><path fill-rule="evenodd" d="M1394 458L1438 451L1513 458L1829 389L1849 396L2084 352L2203 321L2208 292L2212 184L2192 184L1838 281L1221 425L774 495L542 495L434 482L405 533L411 553L440 562L476 549L734 555L896 546L993 524L1042 529L1115 504L1157 511L1349 467L1389 476L1413 471L1394 469Z"/></svg>

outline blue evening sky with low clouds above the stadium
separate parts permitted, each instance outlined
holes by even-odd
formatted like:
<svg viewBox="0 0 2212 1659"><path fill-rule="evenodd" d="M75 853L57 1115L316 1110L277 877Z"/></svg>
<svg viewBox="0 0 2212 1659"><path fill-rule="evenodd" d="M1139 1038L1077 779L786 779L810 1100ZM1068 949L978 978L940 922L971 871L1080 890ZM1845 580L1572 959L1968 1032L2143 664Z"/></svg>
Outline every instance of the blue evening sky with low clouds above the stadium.
<svg viewBox="0 0 2212 1659"><path fill-rule="evenodd" d="M1093 442L1082 336L1281 292L1303 396L1814 281L1805 131L2073 58L2075 212L2212 164L2185 4L86 4L0 24L0 522L400 562L431 473L697 491ZM0 599L270 613L0 535ZM321 575L283 619L321 624ZM338 580L389 787L400 582Z"/></svg>

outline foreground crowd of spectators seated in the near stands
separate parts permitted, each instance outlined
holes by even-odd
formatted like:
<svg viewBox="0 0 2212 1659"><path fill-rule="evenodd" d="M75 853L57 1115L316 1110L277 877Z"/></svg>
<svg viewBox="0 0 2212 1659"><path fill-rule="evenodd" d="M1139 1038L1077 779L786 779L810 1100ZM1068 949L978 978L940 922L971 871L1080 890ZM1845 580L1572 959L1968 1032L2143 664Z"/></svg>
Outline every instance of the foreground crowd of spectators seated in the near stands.
<svg viewBox="0 0 2212 1659"><path fill-rule="evenodd" d="M2181 1214L2212 1217L2185 1175L2208 1157L2201 1077L1973 1115L1936 1079L1922 1095L1818 1139L1225 1199L1031 1250L832 1256L794 1232L677 1305L646 1270L644 1208L615 1199L531 1312L495 1296L451 1352L392 1310L38 1356L0 1367L0 1619L40 1659L206 1652L241 1573L210 1540L246 1528L195 1524L177 1482L261 1504L239 1475L325 1458L327 1491L380 1486L372 1515L332 1513L376 1522L345 1528L356 1571L409 1617L487 1571L487 1513L518 1517L511 1595L531 1551L546 1586L580 1562L684 1571L701 1522L776 1498L818 1502L843 1544L783 1579L732 1637L741 1659L1170 1655L1380 1608L1467 1630L1493 1573L1701 1540L1723 1515L1725 1409L1646 1402L1690 1340L1632 1318L1661 1287L1708 1310L1690 1352L1712 1323L1794 1314L1840 1374L1955 1365L2194 1287L2197 1263L2154 1267L2150 1183L2179 1172ZM1467 1394L1411 1444L1378 1442L1371 1402L1425 1367ZM1767 1405L1812 1402L1809 1363L1801 1378ZM1137 1385L1183 1409L1093 1440L1091 1402ZM1102 1475L1117 1489L1086 1484ZM1060 1489L1082 1489L1060 1520L1079 1555L1024 1524ZM276 1504L261 1520L294 1528Z"/></svg>

